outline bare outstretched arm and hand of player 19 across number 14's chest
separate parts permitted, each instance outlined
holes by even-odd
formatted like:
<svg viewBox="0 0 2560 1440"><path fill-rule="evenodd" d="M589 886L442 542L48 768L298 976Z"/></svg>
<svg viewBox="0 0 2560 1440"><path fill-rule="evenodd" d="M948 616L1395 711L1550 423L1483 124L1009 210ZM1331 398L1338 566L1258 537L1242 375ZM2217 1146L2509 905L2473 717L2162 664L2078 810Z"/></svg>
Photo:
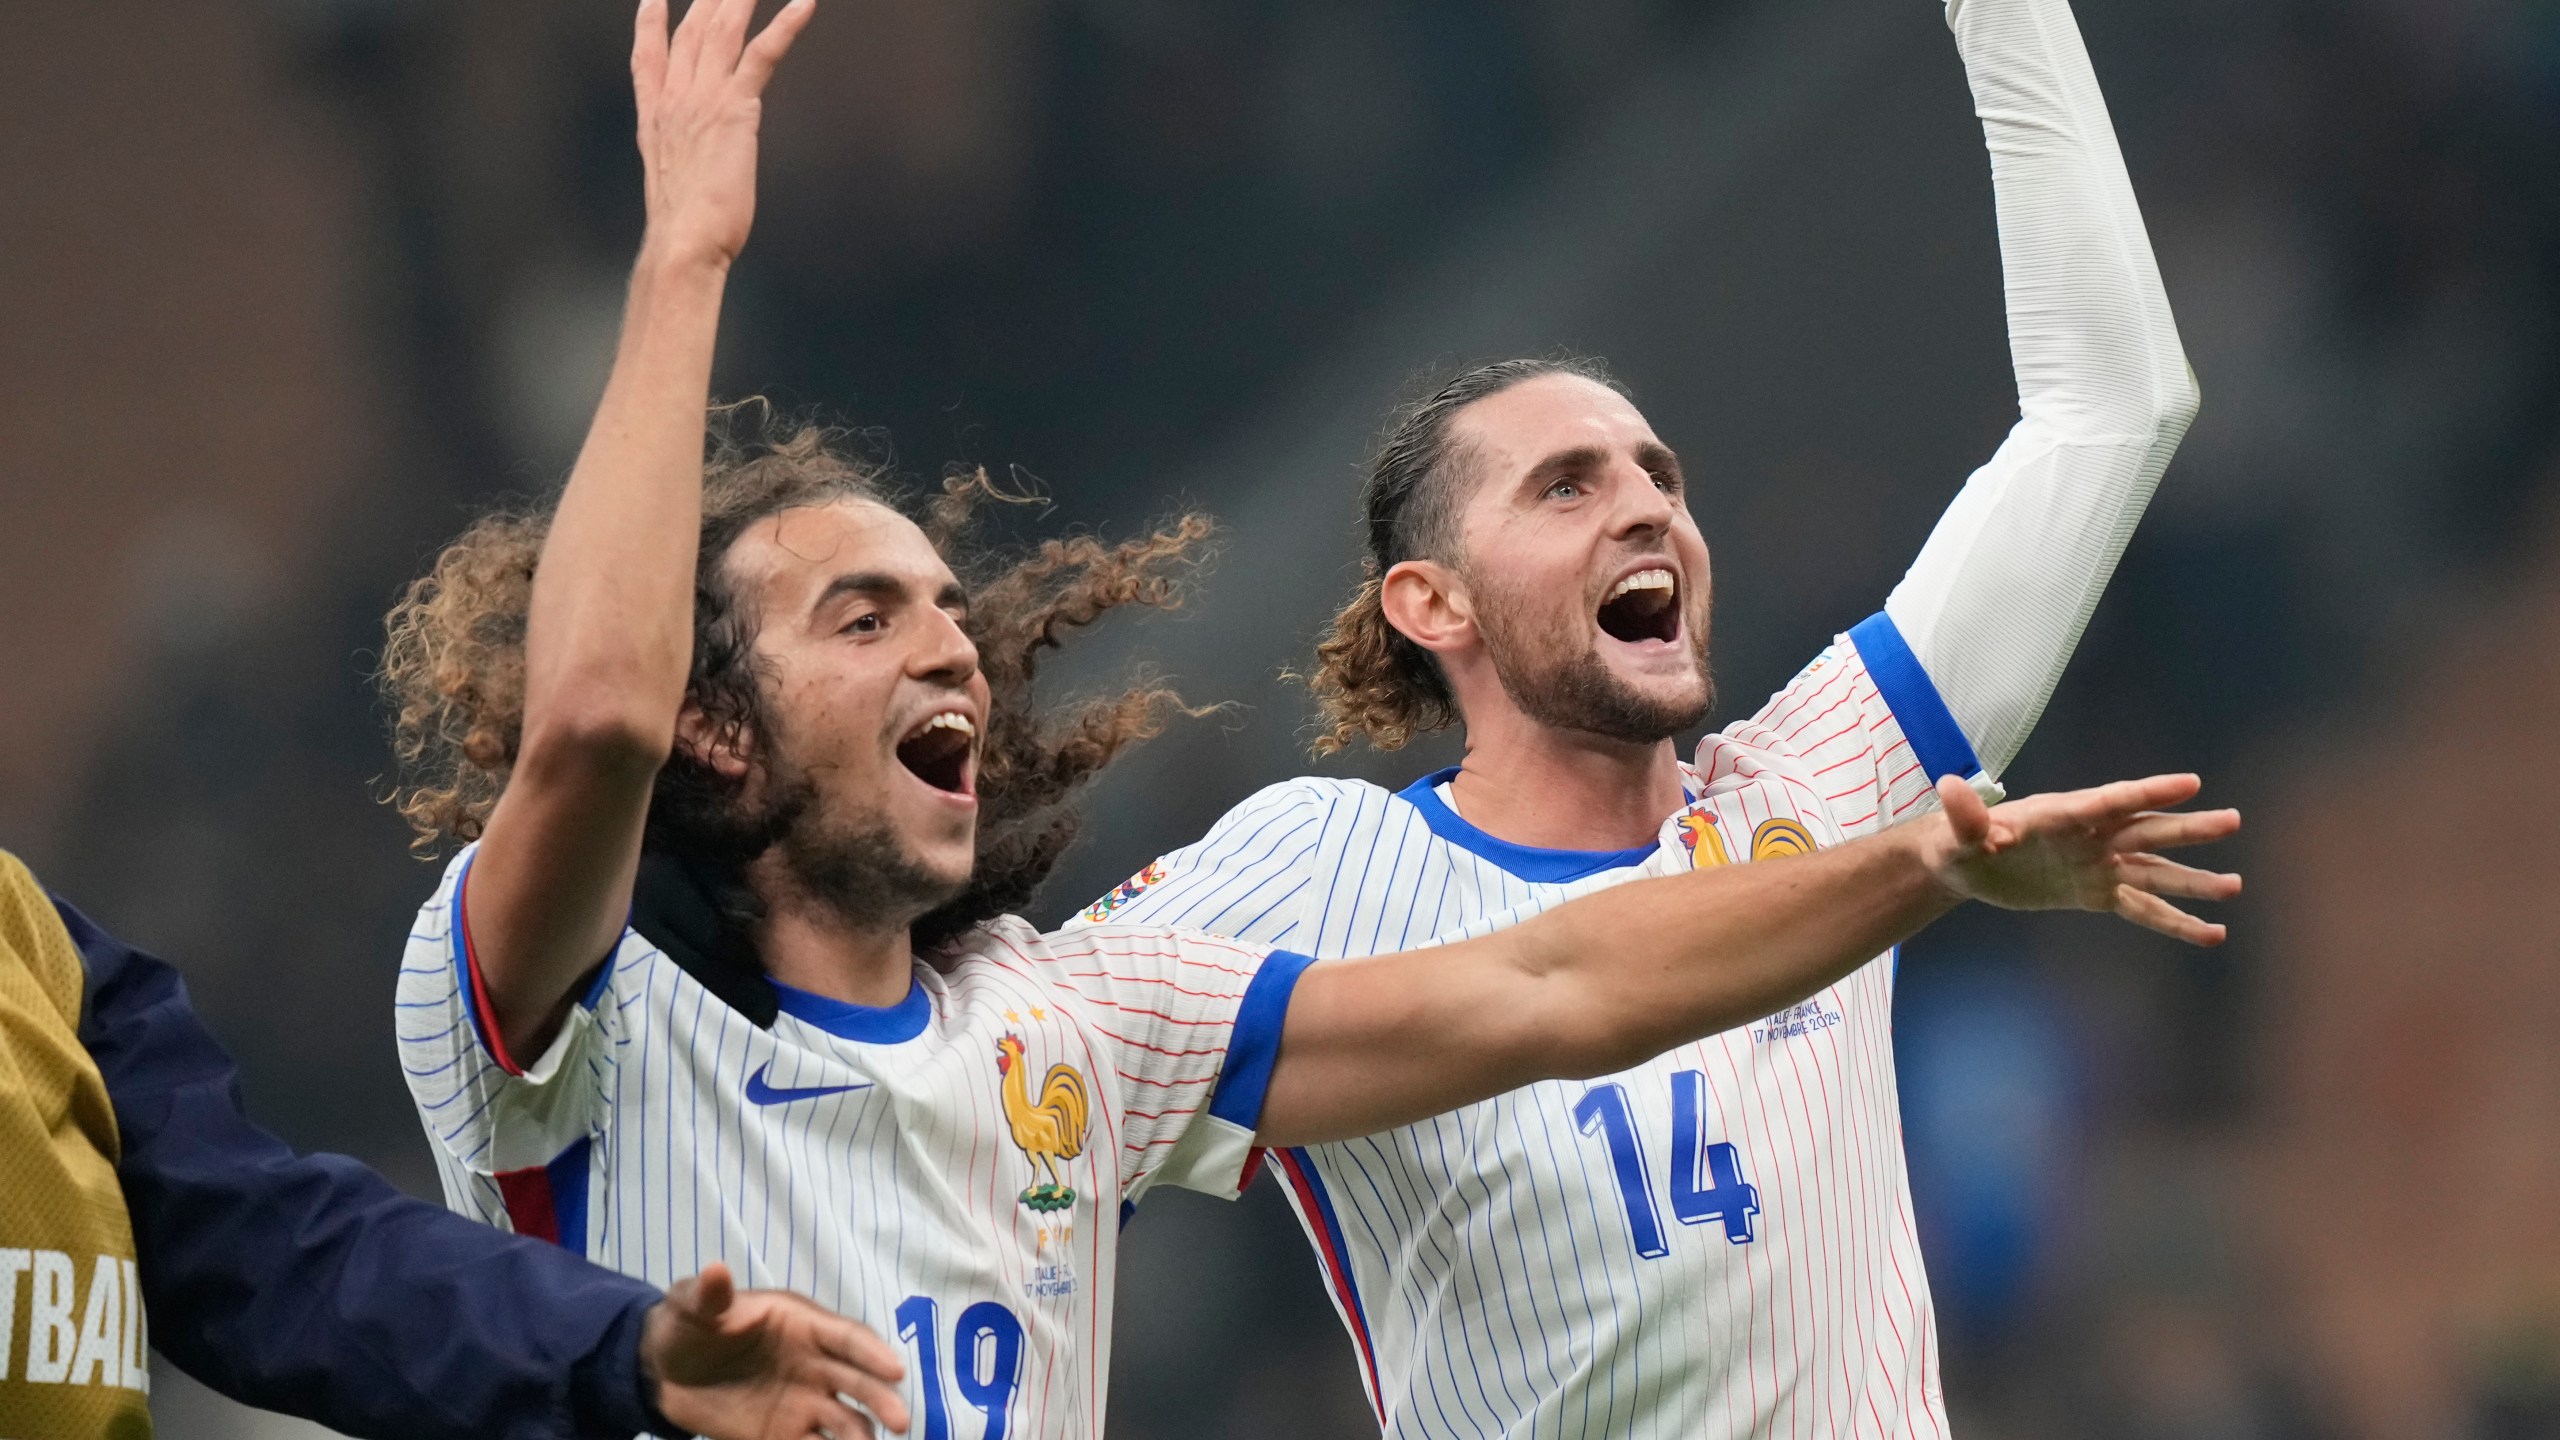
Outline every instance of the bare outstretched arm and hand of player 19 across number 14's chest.
<svg viewBox="0 0 2560 1440"><path fill-rule="evenodd" d="M2163 861L2235 810L2163 815L2194 776L1940 812L1810 856L1623 884L1431 951L1321 961L1298 979L1257 1143L1372 1135L1551 1076L1623 1071L1746 1025L1869 963L1964 899L2107 910L2222 943L2161 897L2230 899L2240 876Z"/></svg>

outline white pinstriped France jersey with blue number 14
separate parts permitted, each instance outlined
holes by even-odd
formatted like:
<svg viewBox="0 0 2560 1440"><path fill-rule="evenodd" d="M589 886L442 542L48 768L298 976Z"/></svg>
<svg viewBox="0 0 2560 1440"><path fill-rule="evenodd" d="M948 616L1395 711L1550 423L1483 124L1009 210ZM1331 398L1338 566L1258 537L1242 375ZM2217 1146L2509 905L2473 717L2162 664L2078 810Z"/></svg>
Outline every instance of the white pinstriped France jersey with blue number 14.
<svg viewBox="0 0 2560 1440"><path fill-rule="evenodd" d="M1710 735L1656 846L1536 851L1400 794L1298 779L1083 920L1364 956L1644 874L1836 846L1974 751L1876 615ZM1098 928L1096 933L1106 933ZM1894 961L1595 1081L1280 1150L1395 1437L1946 1435L1902 1166Z"/></svg>

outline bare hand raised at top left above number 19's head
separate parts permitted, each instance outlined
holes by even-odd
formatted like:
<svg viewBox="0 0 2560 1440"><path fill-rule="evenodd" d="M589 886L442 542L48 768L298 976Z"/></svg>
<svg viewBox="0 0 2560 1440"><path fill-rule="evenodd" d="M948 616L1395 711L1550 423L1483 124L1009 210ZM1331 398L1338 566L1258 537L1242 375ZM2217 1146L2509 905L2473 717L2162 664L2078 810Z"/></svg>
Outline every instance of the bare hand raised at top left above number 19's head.
<svg viewBox="0 0 2560 1440"><path fill-rule="evenodd" d="M765 82L817 0L788 0L755 38L755 0L691 0L668 31L668 0L640 0L632 100L648 187L643 251L727 264L755 223L755 131Z"/></svg>

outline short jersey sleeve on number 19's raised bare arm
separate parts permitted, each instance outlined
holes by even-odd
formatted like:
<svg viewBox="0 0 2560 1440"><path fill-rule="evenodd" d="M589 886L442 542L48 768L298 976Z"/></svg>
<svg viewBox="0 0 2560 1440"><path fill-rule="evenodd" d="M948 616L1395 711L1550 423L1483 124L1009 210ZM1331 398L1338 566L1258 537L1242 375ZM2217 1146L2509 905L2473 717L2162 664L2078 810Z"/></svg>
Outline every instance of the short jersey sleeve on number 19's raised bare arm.
<svg viewBox="0 0 2560 1440"><path fill-rule="evenodd" d="M417 1117L435 1143L448 1199L461 1209L486 1212L486 1204L463 1204L461 1191L486 1191L494 1181L517 1230L543 1230L558 1220L550 1225L532 1220L525 1202L548 1197L553 1171L584 1174L584 1163L568 1166L566 1158L584 1158L586 1140L604 1120L604 1051L612 1043L607 1027L622 1015L622 1007L604 999L620 966L607 961L599 969L548 1051L530 1063L507 1056L494 1038L497 1027L489 1022L479 966L461 922L474 853L466 848L453 858L410 930L394 1015L399 1068L417 1102ZM632 945L627 930L622 945ZM558 1179L568 1186L581 1176ZM553 1238L571 1245L584 1240L584 1235Z"/></svg>

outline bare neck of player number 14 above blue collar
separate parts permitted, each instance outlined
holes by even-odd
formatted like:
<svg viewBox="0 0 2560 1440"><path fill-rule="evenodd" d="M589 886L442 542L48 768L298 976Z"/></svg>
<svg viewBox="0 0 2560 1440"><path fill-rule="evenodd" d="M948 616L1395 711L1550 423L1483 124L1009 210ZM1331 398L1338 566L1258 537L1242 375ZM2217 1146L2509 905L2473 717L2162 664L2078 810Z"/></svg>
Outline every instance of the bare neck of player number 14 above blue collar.
<svg viewBox="0 0 2560 1440"><path fill-rule="evenodd" d="M1649 846L1687 802L1672 740L1628 746L1521 715L1467 730L1467 761L1449 792L1477 830L1544 851Z"/></svg>

